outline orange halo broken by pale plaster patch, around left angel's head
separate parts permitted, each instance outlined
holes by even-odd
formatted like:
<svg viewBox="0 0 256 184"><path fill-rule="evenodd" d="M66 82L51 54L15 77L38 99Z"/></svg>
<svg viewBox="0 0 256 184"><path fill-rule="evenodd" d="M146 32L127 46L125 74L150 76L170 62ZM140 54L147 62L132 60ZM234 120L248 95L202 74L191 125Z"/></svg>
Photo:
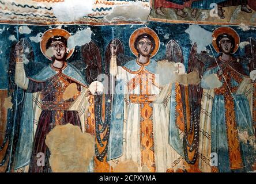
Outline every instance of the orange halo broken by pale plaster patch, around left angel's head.
<svg viewBox="0 0 256 184"><path fill-rule="evenodd" d="M40 41L40 48L44 56L47 57L47 59L51 60L51 57L46 55L46 43L52 36L63 36L67 40L71 36L69 32L67 32L65 29L59 29L59 28L52 28L44 32L42 36L42 40ZM69 55L67 55L67 59L73 54L74 48L70 49Z"/></svg>

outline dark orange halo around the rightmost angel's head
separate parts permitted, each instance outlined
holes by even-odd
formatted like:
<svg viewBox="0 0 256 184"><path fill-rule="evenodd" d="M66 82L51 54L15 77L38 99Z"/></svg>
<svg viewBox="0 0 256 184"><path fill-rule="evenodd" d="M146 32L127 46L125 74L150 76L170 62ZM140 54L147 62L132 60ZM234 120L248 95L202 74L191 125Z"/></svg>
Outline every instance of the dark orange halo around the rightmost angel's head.
<svg viewBox="0 0 256 184"><path fill-rule="evenodd" d="M212 33L212 45L213 45L213 48L216 52L220 53L220 49L217 45L217 37L220 35L220 34L223 34L223 33L227 33L229 35L231 35L232 37L234 37L235 39L235 48L234 48L234 52L235 53L238 48L239 48L239 44L240 44L240 37L238 35L238 33L232 29L232 28L229 28L229 27L226 27L226 26L222 26L220 28L217 28L213 31Z"/></svg>

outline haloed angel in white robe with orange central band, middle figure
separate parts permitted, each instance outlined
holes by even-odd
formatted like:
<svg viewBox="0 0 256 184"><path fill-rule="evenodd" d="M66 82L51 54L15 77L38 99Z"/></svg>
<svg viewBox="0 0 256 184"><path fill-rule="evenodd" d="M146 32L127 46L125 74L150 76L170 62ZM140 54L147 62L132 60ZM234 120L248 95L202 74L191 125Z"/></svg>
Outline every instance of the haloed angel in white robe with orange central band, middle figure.
<svg viewBox="0 0 256 184"><path fill-rule="evenodd" d="M113 43L110 74L119 82L111 116L108 160L111 165L133 160L150 172L182 168L183 159L169 143L171 84L160 86L157 63L159 37L149 28L135 30L130 49L137 56L125 66L116 64ZM168 105L167 105L168 104Z"/></svg>

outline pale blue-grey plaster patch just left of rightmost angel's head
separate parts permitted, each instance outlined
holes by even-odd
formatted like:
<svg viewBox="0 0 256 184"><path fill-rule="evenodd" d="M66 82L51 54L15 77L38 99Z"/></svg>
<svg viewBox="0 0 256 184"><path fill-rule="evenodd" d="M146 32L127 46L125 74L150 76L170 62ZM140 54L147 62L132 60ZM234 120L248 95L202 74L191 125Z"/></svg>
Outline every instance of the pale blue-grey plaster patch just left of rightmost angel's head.
<svg viewBox="0 0 256 184"><path fill-rule="evenodd" d="M199 25L190 25L185 32L189 34L191 44L197 43L197 53L205 51L206 47L212 43L212 33Z"/></svg>

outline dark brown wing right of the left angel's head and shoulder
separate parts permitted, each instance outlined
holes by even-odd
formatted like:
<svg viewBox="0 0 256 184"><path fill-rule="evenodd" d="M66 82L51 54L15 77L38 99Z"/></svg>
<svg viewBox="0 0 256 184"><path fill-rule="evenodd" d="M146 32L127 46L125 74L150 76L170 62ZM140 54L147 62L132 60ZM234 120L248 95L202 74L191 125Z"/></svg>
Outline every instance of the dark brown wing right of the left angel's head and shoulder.
<svg viewBox="0 0 256 184"><path fill-rule="evenodd" d="M92 83L96 81L99 74L102 73L101 54L99 47L93 42L82 45L82 60L86 63L86 81Z"/></svg>

